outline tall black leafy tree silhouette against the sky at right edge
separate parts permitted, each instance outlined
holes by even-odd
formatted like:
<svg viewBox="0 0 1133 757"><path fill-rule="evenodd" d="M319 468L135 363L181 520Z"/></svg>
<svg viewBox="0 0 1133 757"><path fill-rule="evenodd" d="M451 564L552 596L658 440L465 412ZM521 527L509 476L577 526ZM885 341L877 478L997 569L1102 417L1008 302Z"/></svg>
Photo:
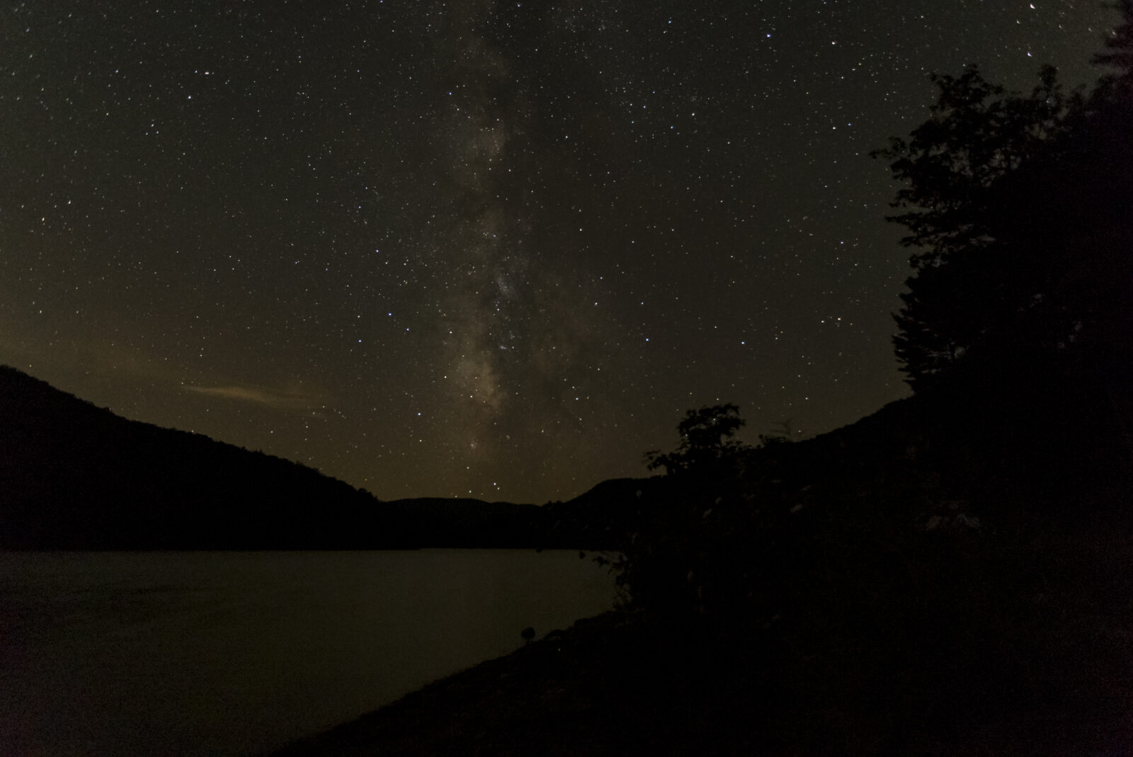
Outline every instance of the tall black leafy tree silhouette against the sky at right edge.
<svg viewBox="0 0 1133 757"><path fill-rule="evenodd" d="M1127 362L1133 6L1097 61L1118 69L1066 96L1055 69L1022 96L976 67L934 76L939 99L891 159L905 184L915 274L894 317L909 383L1097 374ZM1017 382L1016 382L1017 383Z"/></svg>

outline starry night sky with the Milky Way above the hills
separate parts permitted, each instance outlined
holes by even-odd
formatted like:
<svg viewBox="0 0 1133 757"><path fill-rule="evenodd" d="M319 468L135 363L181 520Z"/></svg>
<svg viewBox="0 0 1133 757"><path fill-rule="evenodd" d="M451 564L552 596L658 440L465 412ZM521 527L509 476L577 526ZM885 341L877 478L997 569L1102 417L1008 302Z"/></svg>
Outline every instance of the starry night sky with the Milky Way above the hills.
<svg viewBox="0 0 1133 757"><path fill-rule="evenodd" d="M869 151L928 73L1092 82L1087 0L0 11L0 363L382 499L569 499L684 410L903 397Z"/></svg>

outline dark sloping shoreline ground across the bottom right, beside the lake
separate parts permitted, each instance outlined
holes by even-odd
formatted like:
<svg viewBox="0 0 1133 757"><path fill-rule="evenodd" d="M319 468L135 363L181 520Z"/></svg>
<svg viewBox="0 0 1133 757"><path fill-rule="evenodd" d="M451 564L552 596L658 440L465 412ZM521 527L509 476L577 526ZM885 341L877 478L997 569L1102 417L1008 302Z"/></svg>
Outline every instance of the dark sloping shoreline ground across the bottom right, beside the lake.
<svg viewBox="0 0 1133 757"><path fill-rule="evenodd" d="M886 657L615 611L271 757L1133 754L1127 629L1049 626Z"/></svg>

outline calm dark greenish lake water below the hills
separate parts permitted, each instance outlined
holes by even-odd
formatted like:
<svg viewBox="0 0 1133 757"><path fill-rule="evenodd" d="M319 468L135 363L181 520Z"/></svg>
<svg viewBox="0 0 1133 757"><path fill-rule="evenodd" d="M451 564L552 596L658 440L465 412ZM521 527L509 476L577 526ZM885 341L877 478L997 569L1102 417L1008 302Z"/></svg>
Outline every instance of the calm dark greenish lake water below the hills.
<svg viewBox="0 0 1133 757"><path fill-rule="evenodd" d="M0 553L0 754L255 754L613 598L577 552Z"/></svg>

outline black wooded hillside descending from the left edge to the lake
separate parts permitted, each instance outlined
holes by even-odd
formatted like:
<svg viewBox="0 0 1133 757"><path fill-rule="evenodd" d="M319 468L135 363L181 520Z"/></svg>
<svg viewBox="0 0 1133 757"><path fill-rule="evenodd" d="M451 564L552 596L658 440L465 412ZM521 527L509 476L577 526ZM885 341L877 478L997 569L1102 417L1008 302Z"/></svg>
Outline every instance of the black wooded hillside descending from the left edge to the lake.
<svg viewBox="0 0 1133 757"><path fill-rule="evenodd" d="M312 468L127 420L0 366L2 548L410 546L403 519Z"/></svg>

